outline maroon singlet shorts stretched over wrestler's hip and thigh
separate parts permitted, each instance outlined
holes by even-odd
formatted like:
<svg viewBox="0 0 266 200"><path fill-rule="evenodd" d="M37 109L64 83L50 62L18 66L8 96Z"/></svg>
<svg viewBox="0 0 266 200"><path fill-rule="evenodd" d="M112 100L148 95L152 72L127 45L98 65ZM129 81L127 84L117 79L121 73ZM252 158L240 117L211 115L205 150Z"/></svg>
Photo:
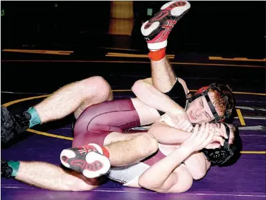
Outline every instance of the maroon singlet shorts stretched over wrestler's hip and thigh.
<svg viewBox="0 0 266 200"><path fill-rule="evenodd" d="M117 133L124 129L139 127L139 115L132 100L112 100L93 105L82 112L74 127L73 146L97 143L103 145L105 137L112 132L112 140L122 140ZM119 139L118 139L119 138ZM128 140L132 136L124 136Z"/></svg>

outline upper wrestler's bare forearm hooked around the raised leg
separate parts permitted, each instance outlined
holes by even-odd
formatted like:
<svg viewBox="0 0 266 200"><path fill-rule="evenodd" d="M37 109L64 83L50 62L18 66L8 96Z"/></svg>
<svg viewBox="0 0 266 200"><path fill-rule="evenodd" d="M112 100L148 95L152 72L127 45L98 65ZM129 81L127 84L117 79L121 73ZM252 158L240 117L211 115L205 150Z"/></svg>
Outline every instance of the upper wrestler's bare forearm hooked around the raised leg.
<svg viewBox="0 0 266 200"><path fill-rule="evenodd" d="M156 89L150 79L138 80L132 87L133 93L148 106L165 113L186 113L184 109L166 94Z"/></svg>

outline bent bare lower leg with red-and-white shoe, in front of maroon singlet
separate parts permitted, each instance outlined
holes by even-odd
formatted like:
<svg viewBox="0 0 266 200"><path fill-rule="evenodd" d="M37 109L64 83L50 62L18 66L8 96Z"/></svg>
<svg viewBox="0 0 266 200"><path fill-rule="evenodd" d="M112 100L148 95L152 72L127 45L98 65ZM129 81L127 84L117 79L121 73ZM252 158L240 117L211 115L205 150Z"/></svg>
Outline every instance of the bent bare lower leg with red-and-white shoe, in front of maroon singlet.
<svg viewBox="0 0 266 200"><path fill-rule="evenodd" d="M148 133L112 132L107 136L99 134L101 138L96 140L89 135L82 136L82 140L75 137L73 147L60 154L62 165L89 178L106 174L111 166L121 167L141 161L158 149L157 140Z"/></svg>

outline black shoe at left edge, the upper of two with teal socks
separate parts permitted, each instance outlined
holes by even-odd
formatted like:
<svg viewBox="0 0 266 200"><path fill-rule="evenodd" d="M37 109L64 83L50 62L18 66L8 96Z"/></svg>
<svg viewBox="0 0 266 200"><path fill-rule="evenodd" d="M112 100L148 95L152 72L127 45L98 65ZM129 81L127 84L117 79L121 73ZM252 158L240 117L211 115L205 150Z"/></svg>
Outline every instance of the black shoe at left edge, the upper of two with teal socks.
<svg viewBox="0 0 266 200"><path fill-rule="evenodd" d="M30 125L28 112L13 116L6 107L1 106L1 143L8 143Z"/></svg>

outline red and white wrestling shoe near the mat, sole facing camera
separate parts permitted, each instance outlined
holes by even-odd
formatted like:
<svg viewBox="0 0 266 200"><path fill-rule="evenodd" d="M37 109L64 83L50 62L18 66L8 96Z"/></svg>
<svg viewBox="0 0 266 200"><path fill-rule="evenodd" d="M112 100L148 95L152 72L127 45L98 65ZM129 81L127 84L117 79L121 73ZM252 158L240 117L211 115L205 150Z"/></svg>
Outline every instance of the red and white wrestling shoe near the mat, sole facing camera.
<svg viewBox="0 0 266 200"><path fill-rule="evenodd" d="M62 165L81 172L87 178L96 178L106 174L110 167L109 159L103 155L103 149L96 144L64 149L60 154Z"/></svg>

